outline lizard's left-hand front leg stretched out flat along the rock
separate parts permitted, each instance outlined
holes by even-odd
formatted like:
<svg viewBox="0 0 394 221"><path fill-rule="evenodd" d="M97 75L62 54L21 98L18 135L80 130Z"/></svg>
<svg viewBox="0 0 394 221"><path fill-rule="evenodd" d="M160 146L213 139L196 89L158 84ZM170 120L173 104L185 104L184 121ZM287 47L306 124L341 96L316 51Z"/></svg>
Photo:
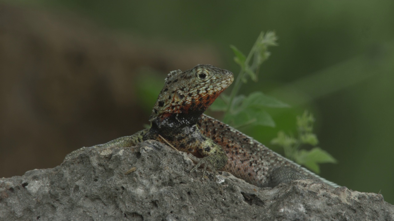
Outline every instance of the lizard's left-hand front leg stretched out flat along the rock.
<svg viewBox="0 0 394 221"><path fill-rule="evenodd" d="M115 140L111 140L110 142L107 142L105 144L98 144L91 147L82 147L67 154L64 160L74 158L80 155L82 152L92 148L131 147L137 145L138 143L143 141L143 135L146 134L148 130L149 129L144 129L142 131L138 131L131 136L123 136Z"/></svg>

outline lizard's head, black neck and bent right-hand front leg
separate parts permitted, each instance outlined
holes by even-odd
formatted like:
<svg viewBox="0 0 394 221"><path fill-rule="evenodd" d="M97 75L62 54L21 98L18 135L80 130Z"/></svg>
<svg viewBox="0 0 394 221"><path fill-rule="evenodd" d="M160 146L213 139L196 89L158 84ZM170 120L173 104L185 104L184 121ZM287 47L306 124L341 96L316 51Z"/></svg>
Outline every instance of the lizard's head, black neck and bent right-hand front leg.
<svg viewBox="0 0 394 221"><path fill-rule="evenodd" d="M151 128L143 140L161 140L160 134L178 150L202 156L193 170L201 164L204 172L206 168L212 171L223 168L227 155L220 145L201 133L197 122L233 80L231 72L208 64L185 72L170 72L149 118Z"/></svg>

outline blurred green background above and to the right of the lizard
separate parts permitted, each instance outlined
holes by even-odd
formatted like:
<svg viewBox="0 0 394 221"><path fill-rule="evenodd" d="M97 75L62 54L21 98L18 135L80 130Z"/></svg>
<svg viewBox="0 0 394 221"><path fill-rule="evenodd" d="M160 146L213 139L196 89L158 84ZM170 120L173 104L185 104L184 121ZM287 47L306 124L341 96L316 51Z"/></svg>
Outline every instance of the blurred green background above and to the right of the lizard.
<svg viewBox="0 0 394 221"><path fill-rule="evenodd" d="M260 90L292 107L268 110L275 128L242 131L270 147L279 130L296 132L296 116L307 109L316 118L319 146L338 160L322 165L320 175L394 203L393 1L4 2L71 13L155 44L207 44L218 52L220 68L234 74L239 67L229 45L247 53L260 31L275 31L279 46L270 48L258 83L248 82L241 93ZM162 83L166 73L160 74ZM145 105L148 112L152 102Z"/></svg>

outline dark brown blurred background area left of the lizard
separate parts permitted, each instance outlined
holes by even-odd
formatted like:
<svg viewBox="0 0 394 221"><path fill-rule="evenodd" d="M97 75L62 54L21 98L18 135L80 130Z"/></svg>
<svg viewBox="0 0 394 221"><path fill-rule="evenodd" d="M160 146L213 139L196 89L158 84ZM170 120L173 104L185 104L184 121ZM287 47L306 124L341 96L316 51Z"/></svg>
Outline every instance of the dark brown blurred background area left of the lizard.
<svg viewBox="0 0 394 221"><path fill-rule="evenodd" d="M210 46L164 43L0 4L0 177L54 167L74 149L142 129L150 112L136 103L141 67L164 81L171 70L220 64Z"/></svg>

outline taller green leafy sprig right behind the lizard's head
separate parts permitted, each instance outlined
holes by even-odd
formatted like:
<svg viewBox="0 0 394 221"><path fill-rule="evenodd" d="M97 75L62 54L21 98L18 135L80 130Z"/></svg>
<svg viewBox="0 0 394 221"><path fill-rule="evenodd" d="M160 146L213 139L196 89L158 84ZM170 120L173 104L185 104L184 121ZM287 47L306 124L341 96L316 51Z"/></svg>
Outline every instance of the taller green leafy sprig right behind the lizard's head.
<svg viewBox="0 0 394 221"><path fill-rule="evenodd" d="M237 95L242 83L247 83L248 77L253 81L258 80L260 65L270 56L267 49L269 46L276 46L276 41L277 37L274 32L260 33L247 56L236 46L230 46L235 55L234 61L240 65L241 70L234 82L230 96L222 94L210 107L210 110L225 111L223 122L236 128L245 125L275 127L275 122L264 108L289 107L286 103L262 92L254 92L249 96Z"/></svg>

